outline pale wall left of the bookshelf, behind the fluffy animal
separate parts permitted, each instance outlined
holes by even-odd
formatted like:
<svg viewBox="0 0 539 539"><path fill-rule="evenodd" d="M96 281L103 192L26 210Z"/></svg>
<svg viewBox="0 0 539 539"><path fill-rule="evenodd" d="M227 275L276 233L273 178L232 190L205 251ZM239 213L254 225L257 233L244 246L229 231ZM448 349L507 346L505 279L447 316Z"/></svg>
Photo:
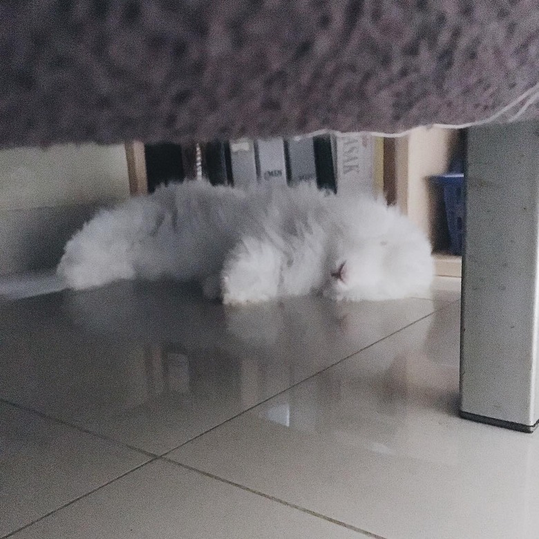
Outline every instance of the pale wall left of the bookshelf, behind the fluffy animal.
<svg viewBox="0 0 539 539"><path fill-rule="evenodd" d="M123 144L0 151L0 274L53 267L100 205L128 196Z"/></svg>

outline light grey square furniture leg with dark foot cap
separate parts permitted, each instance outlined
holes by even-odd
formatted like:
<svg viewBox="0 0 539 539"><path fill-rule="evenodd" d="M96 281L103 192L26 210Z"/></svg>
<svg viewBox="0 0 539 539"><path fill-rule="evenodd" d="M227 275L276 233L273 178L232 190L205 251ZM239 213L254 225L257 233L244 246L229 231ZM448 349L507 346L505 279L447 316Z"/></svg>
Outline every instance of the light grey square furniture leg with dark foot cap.
<svg viewBox="0 0 539 539"><path fill-rule="evenodd" d="M470 129L460 413L539 423L539 122Z"/></svg>

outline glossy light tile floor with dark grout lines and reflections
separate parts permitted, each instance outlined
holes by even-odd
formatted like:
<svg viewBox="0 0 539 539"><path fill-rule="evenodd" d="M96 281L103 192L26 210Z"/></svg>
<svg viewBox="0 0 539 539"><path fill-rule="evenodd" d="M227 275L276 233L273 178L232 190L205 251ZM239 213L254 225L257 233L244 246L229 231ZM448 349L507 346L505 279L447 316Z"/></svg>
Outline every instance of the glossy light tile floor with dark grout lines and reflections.
<svg viewBox="0 0 539 539"><path fill-rule="evenodd" d="M249 308L30 289L0 287L0 538L538 537L539 435L456 417L456 281Z"/></svg>

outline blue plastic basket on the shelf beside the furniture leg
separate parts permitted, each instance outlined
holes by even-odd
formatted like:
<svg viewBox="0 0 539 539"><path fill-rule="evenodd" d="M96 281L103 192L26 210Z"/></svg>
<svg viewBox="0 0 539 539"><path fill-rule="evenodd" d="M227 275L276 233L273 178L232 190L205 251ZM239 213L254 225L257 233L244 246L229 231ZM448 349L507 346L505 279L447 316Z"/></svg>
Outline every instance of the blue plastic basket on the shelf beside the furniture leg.
<svg viewBox="0 0 539 539"><path fill-rule="evenodd" d="M432 176L432 180L444 189L447 227L451 239L451 254L462 255L464 237L464 174L450 172Z"/></svg>

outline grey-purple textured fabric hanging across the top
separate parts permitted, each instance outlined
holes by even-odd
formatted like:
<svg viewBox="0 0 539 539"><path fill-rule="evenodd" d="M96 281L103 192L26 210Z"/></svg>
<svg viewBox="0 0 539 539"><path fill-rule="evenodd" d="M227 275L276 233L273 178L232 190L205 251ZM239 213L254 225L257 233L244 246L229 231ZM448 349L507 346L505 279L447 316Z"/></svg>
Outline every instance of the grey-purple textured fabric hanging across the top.
<svg viewBox="0 0 539 539"><path fill-rule="evenodd" d="M530 0L4 0L0 145L469 122L538 50Z"/></svg>

